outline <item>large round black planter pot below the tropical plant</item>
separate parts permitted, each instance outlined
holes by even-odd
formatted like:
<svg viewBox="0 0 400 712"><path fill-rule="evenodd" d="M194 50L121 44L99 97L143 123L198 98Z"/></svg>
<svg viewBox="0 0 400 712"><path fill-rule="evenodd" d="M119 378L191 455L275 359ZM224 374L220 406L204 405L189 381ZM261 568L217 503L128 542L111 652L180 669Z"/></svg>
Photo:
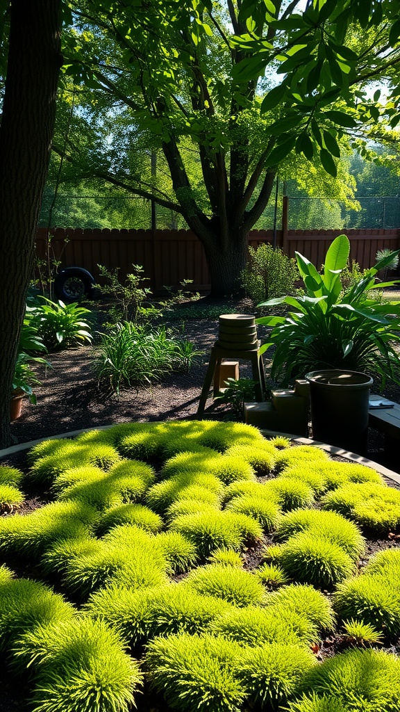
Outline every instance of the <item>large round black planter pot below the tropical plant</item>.
<svg viewBox="0 0 400 712"><path fill-rule="evenodd" d="M367 451L369 390L373 379L357 371L311 371L312 438L359 455Z"/></svg>

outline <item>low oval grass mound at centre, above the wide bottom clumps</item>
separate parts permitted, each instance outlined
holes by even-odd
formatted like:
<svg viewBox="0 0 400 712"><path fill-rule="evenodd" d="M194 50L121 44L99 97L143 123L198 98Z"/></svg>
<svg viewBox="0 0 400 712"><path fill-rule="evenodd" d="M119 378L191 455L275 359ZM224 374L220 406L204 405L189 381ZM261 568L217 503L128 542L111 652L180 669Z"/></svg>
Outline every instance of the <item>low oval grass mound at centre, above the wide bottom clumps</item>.
<svg viewBox="0 0 400 712"><path fill-rule="evenodd" d="M222 598L236 606L259 604L263 585L248 571L221 564L207 564L189 573L186 585L204 596Z"/></svg>

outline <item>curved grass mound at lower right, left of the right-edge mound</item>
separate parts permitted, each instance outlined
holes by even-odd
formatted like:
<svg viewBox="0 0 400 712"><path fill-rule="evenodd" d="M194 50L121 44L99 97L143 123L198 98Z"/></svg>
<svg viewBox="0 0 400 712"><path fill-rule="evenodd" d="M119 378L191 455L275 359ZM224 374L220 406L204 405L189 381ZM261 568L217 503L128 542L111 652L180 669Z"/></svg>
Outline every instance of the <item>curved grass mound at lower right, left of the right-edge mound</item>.
<svg viewBox="0 0 400 712"><path fill-rule="evenodd" d="M266 604L272 606L277 614L295 612L304 617L318 631L332 630L334 617L330 602L310 585L290 584L268 594Z"/></svg>

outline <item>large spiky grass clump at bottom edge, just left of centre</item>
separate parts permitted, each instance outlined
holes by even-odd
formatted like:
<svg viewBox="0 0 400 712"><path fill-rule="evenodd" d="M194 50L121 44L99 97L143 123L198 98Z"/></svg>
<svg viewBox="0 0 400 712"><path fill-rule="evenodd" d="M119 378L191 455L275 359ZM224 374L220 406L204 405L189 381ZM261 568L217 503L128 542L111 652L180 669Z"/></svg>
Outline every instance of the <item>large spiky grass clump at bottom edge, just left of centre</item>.
<svg viewBox="0 0 400 712"><path fill-rule="evenodd" d="M150 686L181 712L240 712L246 691L236 664L243 648L208 634L181 633L149 643L144 658Z"/></svg>

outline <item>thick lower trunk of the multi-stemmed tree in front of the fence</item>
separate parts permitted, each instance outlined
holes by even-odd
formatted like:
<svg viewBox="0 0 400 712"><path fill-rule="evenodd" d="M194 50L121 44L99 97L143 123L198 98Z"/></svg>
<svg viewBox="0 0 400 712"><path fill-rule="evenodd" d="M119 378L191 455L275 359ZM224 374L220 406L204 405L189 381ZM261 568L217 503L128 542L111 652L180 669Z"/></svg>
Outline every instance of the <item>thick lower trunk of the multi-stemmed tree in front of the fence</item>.
<svg viewBox="0 0 400 712"><path fill-rule="evenodd" d="M223 245L219 235L213 241L203 241L209 266L212 297L241 296L243 270L248 254L248 236L238 232Z"/></svg>

